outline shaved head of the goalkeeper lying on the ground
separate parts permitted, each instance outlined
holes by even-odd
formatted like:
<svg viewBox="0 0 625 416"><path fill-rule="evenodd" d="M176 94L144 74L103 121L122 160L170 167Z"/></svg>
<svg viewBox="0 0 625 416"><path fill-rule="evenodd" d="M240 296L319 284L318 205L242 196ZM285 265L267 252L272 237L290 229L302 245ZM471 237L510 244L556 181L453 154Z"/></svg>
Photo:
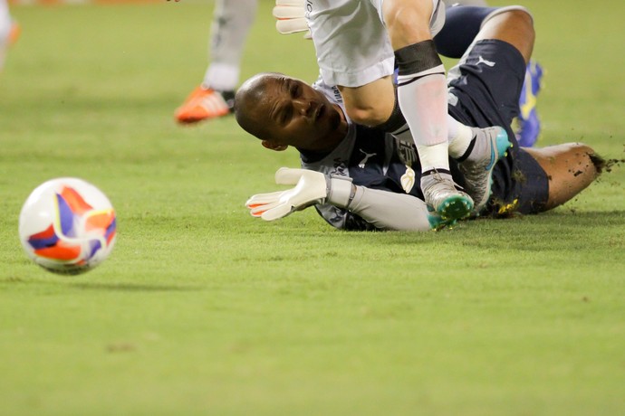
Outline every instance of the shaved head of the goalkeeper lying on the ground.
<svg viewBox="0 0 625 416"><path fill-rule="evenodd" d="M236 92L235 117L264 147L330 151L347 135L341 108L303 80L264 72Z"/></svg>

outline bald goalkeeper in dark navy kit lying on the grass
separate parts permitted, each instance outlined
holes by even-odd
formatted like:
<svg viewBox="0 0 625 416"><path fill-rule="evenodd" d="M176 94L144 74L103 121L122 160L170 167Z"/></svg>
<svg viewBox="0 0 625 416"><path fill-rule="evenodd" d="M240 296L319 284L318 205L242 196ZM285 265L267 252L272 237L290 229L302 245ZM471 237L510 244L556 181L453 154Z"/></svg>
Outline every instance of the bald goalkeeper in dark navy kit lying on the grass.
<svg viewBox="0 0 625 416"><path fill-rule="evenodd" d="M476 43L449 71L449 114L469 126L506 126L513 147L496 163L492 194L475 215L547 211L591 184L604 162L582 144L518 147L510 125L534 46L532 18L515 7L483 17ZM338 90L321 81L311 87L277 73L245 81L236 94L239 125L264 147L296 147L303 167L279 169L276 183L295 186L252 196L252 215L272 221L314 205L327 222L346 230L428 231L445 225L423 202L413 144L352 124L341 104ZM450 165L462 186L459 161Z"/></svg>

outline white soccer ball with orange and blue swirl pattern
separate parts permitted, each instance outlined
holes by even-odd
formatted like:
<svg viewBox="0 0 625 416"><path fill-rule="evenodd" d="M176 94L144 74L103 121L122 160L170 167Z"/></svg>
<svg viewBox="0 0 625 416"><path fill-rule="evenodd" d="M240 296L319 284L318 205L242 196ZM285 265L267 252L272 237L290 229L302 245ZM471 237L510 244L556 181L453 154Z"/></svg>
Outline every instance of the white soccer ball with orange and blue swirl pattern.
<svg viewBox="0 0 625 416"><path fill-rule="evenodd" d="M115 211L105 194L82 179L63 177L37 186L20 213L20 241L36 264L79 274L109 257Z"/></svg>

